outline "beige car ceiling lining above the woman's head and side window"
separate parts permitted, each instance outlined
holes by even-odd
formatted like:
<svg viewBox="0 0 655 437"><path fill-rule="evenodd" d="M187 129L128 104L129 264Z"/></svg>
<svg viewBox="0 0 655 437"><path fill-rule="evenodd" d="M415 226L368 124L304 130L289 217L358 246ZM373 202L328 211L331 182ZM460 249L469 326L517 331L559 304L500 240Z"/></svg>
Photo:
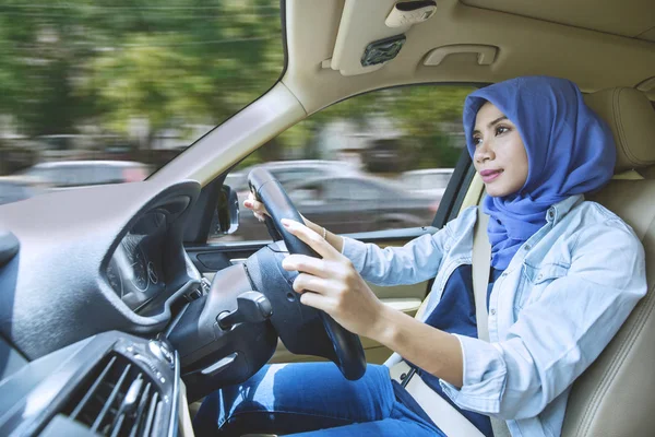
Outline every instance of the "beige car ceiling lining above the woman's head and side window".
<svg viewBox="0 0 655 437"><path fill-rule="evenodd" d="M357 54L364 52L366 45L389 35L384 20L395 1L285 4L288 64L282 82L308 114L366 91L410 83L492 83L548 74L594 92L635 87L655 76L652 0L440 0L431 19L405 32L407 40L395 59L357 75L332 69L340 34L359 47ZM498 51L487 66L478 64L476 54L446 56L436 67L424 64L431 50L451 45L490 45ZM645 92L655 99L655 81Z"/></svg>

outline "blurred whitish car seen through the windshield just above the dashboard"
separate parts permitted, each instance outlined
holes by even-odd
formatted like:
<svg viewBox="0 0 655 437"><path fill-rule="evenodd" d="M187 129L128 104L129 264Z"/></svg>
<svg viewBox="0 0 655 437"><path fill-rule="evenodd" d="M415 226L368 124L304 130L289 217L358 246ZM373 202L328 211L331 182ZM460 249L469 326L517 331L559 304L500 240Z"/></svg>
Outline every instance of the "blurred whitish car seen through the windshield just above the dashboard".
<svg viewBox="0 0 655 437"><path fill-rule="evenodd" d="M20 175L39 180L49 188L136 182L151 173L146 164L132 161L60 161L36 164Z"/></svg>

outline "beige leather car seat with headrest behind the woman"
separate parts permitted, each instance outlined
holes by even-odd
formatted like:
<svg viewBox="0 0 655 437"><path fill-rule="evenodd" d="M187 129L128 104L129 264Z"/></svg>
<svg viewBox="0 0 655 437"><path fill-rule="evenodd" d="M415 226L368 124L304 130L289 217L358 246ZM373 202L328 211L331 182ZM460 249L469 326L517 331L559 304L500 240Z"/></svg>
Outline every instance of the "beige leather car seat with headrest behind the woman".
<svg viewBox="0 0 655 437"><path fill-rule="evenodd" d="M610 126L617 143L615 173L655 164L655 110L633 88L585 97ZM623 218L646 252L648 292L603 354L574 382L562 436L655 435L655 180L612 180L587 196Z"/></svg>

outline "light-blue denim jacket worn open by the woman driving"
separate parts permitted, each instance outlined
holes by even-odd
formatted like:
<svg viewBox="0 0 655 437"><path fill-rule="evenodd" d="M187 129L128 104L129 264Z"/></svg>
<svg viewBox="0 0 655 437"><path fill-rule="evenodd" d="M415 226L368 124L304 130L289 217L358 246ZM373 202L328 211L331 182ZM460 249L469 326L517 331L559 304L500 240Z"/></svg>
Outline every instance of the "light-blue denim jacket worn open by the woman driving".
<svg viewBox="0 0 655 437"><path fill-rule="evenodd" d="M472 262L476 209L403 247L345 238L343 253L377 285L436 276L425 320L453 271ZM490 342L456 335L463 386L441 381L460 408L505 420L512 436L561 434L572 382L646 293L643 246L617 215L573 196L552 205L546 222L493 285Z"/></svg>

